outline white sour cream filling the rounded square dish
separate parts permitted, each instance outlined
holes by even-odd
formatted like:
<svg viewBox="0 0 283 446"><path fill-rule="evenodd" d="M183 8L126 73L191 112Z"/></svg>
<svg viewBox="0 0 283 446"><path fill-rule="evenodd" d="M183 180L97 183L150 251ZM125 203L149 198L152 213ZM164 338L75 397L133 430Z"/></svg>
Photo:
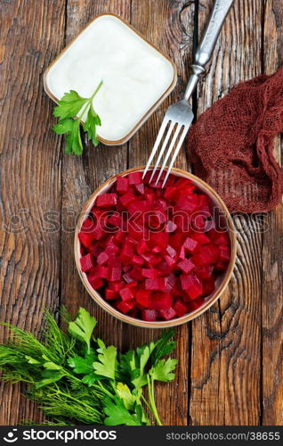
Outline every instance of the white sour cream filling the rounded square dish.
<svg viewBox="0 0 283 446"><path fill-rule="evenodd" d="M174 65L123 21L98 17L53 63L45 84L56 98L73 89L93 99L101 117L98 134L109 142L125 138L169 87Z"/></svg>

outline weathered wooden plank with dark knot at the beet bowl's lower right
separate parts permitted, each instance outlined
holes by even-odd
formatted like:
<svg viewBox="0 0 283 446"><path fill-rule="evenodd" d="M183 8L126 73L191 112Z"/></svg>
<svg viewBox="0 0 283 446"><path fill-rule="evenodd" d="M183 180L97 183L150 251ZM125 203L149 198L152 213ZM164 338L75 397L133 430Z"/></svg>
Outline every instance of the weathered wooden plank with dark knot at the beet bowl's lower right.
<svg viewBox="0 0 283 446"><path fill-rule="evenodd" d="M201 0L199 36L211 1ZM263 3L236 0L198 88L198 114L241 79L261 72ZM262 235L255 218L235 217L239 255L220 301L192 326L190 422L256 425L260 422Z"/></svg>

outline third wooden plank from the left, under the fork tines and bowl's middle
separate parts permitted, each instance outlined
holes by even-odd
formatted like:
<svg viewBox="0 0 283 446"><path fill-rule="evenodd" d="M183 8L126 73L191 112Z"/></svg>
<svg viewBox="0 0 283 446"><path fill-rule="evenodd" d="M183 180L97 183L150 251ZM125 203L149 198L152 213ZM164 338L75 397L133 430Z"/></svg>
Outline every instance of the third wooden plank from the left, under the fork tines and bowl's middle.
<svg viewBox="0 0 283 446"><path fill-rule="evenodd" d="M174 93L130 141L130 167L145 164L158 135L158 128L166 107L179 99L184 91L192 54L193 18L194 4L185 1L132 1L133 26L173 59L178 70L178 85ZM183 169L187 168L184 150L178 156L176 165ZM150 339L158 336L157 331L130 326L126 328L126 332L133 346L149 342ZM176 379L172 384L158 385L157 389L158 409L165 425L187 425L188 422L189 351L189 325L186 325L177 329L175 355L179 359L179 366Z"/></svg>

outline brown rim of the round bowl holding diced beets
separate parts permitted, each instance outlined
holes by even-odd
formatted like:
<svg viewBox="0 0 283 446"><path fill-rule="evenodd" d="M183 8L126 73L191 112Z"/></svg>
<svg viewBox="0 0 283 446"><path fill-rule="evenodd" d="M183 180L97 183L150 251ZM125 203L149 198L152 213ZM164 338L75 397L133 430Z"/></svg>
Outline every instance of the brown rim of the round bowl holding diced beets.
<svg viewBox="0 0 283 446"><path fill-rule="evenodd" d="M88 199L88 201L85 202L85 206L84 206L84 208L80 214L80 217L77 221L77 227L76 227L76 233L75 233L75 246L74 247L75 247L75 260L76 260L76 264L77 264L77 271L78 271L79 277L81 278L83 284L85 285L85 289L92 296L93 300L96 301L101 306L102 309L108 311L109 314L111 314L115 318L118 318L118 319L122 320L123 322L127 322L128 324L131 324L133 326L142 326L142 327L147 327L147 328L166 328L169 326L179 326L179 325L184 324L185 322L188 322L194 318L198 318L198 316L200 316L202 313L204 313L206 310L208 310L214 304L214 302L217 301L217 299L221 296L221 294L223 293L224 289L226 288L226 286L228 285L228 283L230 281L230 277L231 277L233 268L235 266L235 261L236 261L236 252L237 252L236 231L235 231L233 221L230 218L230 212L226 208L226 205L224 204L224 202L222 202L222 199L220 198L220 196L218 194L216 194L214 189L212 187L208 186L200 178L195 177L194 175L192 175L189 172L186 172L185 170L182 170L182 169L172 169L172 173L176 177L189 178L198 187L199 191L201 191L202 193L205 193L209 196L209 198L211 200L212 211L215 212L216 216L217 216L217 214L219 215L219 219L221 221L222 227L225 226L227 228L229 235L230 235L230 262L228 264L226 271L224 271L222 273L222 275L217 277L216 282L215 282L216 288L214 290L214 293L211 293L209 296L207 296L205 302L197 310L194 310L188 314L185 314L184 316L182 316L182 318L174 318L174 319L165 320L165 321L147 322L142 319L132 318L130 316L127 316L127 315L121 313L120 311L116 310L115 308L113 308L108 303L108 301L103 299L103 297L101 296L100 293L98 293L96 290L93 290L92 286L88 283L86 274L83 273L80 268L81 254L80 254L80 242L78 239L78 233L80 231L80 228L82 227L83 222L85 221L85 219L87 218L89 212L91 211L91 209L93 207L95 198L99 194L107 193L109 191L109 189L111 188L111 186L113 185L113 183L115 183L117 177L124 177L125 175L127 175L130 172L142 171L143 169L144 169L144 166L137 167L134 169L127 169L124 172L121 172L121 173L115 175L114 177L109 178L107 181L105 181L105 183L103 183L100 187L98 187L96 189L96 191L93 192L93 194Z"/></svg>

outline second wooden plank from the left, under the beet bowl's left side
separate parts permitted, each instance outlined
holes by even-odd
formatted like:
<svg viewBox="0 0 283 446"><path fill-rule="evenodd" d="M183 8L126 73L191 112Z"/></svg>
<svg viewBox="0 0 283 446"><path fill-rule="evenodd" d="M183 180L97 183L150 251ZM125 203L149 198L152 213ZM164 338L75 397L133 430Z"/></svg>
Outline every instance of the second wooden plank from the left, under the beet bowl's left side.
<svg viewBox="0 0 283 446"><path fill-rule="evenodd" d="M102 12L115 12L130 19L130 3L123 0L69 0L67 8L67 42L77 36L88 21ZM62 140L63 146L63 140ZM103 181L126 169L127 145L85 145L82 157L63 156L62 161L62 227L72 227L61 234L61 295L62 301L74 314L82 305L98 319L97 333L108 343L122 343L122 323L110 317L96 305L77 274L74 260L74 225L86 199Z"/></svg>

